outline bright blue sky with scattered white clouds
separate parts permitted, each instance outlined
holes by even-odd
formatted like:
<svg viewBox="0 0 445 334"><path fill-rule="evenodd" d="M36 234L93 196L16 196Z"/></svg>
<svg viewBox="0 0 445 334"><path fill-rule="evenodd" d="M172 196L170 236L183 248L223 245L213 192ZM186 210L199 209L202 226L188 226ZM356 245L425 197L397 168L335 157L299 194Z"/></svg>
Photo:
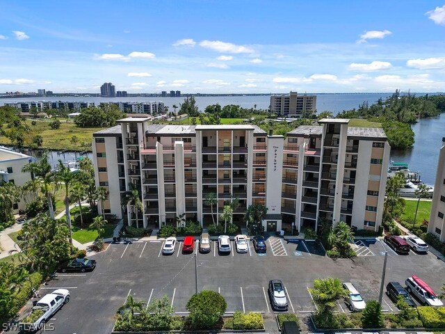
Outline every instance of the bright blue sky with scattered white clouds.
<svg viewBox="0 0 445 334"><path fill-rule="evenodd" d="M0 93L445 91L445 0L2 2Z"/></svg>

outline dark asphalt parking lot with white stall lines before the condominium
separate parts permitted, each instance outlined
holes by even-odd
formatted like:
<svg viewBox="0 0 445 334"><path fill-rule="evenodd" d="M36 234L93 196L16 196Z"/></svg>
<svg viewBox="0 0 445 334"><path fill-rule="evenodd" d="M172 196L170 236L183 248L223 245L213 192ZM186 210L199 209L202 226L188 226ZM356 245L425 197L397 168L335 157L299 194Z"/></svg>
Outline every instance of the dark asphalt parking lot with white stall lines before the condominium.
<svg viewBox="0 0 445 334"><path fill-rule="evenodd" d="M272 315L267 294L268 281L280 279L289 296L289 312L305 313L315 310L308 289L315 278L340 278L352 282L364 300L378 299L380 276L385 251L388 251L386 282L405 279L412 274L425 280L439 292L445 276L445 264L428 253L410 252L398 255L382 241L356 240L357 256L353 260L331 260L323 246L314 241L288 240L270 237L266 254L257 254L252 242L248 253L218 254L216 241L211 252L197 254L198 289L220 292L227 301L227 312L264 312ZM113 316L129 294L135 299L152 302L167 295L179 314L186 312L186 303L195 293L195 258L193 253L163 255L163 241L138 241L132 244L111 244L108 249L91 258L97 260L92 273L59 274L40 290L45 294L56 288L71 292L70 303L54 315L55 333L109 333ZM386 295L383 309L396 312L396 306ZM348 312L339 303L339 312ZM75 317L73 316L75 315Z"/></svg>

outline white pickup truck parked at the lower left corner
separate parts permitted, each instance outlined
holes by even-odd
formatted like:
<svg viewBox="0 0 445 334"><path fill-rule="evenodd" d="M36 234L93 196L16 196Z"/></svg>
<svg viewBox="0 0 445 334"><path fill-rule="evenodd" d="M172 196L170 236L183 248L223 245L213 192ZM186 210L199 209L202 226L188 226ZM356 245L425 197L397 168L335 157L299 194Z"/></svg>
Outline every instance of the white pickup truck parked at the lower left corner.
<svg viewBox="0 0 445 334"><path fill-rule="evenodd" d="M19 329L29 332L38 331L68 301L70 301L70 292L67 289L56 289L51 294L43 296L35 303L29 314L19 322Z"/></svg>

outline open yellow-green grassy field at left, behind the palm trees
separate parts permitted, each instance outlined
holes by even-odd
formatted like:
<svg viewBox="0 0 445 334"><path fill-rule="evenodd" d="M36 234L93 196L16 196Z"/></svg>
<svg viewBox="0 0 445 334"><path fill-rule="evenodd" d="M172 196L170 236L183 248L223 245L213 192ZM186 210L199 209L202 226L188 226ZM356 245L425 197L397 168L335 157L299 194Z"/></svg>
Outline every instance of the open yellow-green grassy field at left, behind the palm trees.
<svg viewBox="0 0 445 334"><path fill-rule="evenodd" d="M40 134L43 137L43 147L51 150L91 150L92 134L103 128L99 127L76 127L73 122L60 119L60 128L51 129L49 123L56 120L36 120L36 125L31 125L31 120L26 124L31 127L31 132L25 134L24 145L32 142L33 136ZM6 125L3 126L6 129ZM72 136L77 137L77 142L72 143ZM10 144L8 138L0 136L0 144Z"/></svg>

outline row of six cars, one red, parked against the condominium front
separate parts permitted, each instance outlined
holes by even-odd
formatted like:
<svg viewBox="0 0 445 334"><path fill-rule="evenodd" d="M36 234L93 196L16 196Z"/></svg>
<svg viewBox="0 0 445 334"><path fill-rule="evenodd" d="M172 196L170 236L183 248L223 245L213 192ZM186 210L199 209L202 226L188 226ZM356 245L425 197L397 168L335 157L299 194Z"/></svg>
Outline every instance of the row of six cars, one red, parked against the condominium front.
<svg viewBox="0 0 445 334"><path fill-rule="evenodd" d="M200 253L209 253L211 251L211 241L209 233L202 233L199 241ZM266 253L267 246L264 237L253 237L253 247L258 253ZM175 237L168 237L165 239L162 253L165 255L175 253L175 246L177 239ZM182 246L183 253L192 253L195 248L195 237L184 237L184 244ZM237 253L248 253L249 244L248 238L244 234L238 234L235 237L235 248ZM220 253L230 253L232 251L232 244L228 235L220 235L218 237L218 251Z"/></svg>

